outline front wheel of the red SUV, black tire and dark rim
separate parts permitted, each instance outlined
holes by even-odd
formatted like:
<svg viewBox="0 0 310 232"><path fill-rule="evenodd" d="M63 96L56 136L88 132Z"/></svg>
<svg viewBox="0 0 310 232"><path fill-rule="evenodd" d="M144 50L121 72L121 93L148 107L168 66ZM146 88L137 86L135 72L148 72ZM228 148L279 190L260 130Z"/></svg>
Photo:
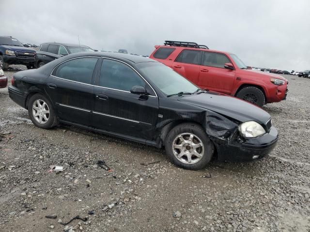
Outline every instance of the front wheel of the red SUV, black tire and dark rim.
<svg viewBox="0 0 310 232"><path fill-rule="evenodd" d="M265 95L263 91L254 86L242 88L239 90L236 97L260 107L265 104Z"/></svg>

